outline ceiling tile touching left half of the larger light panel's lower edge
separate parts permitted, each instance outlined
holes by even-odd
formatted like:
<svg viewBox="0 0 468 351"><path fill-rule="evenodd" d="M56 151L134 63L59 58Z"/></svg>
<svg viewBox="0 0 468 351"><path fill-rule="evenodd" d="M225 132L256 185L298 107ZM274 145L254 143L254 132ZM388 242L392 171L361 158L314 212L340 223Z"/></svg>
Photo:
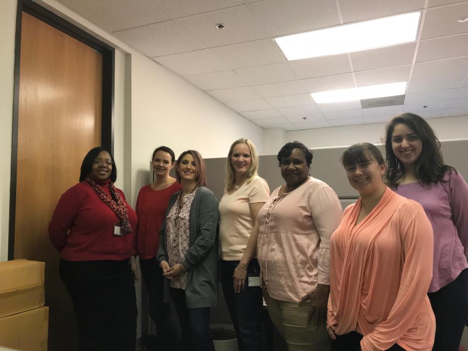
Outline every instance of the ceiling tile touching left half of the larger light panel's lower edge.
<svg viewBox="0 0 468 351"><path fill-rule="evenodd" d="M288 61L297 78L331 76L351 72L348 55L325 56Z"/></svg>

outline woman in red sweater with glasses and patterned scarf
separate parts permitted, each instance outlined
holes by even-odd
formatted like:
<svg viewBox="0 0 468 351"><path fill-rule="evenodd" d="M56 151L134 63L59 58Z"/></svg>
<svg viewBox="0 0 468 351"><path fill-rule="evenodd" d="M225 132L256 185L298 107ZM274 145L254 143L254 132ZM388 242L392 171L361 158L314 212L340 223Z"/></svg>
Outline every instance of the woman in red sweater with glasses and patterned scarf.
<svg viewBox="0 0 468 351"><path fill-rule="evenodd" d="M135 350L137 215L116 179L112 154L91 149L79 183L60 197L49 224L60 277L75 307L80 351Z"/></svg>

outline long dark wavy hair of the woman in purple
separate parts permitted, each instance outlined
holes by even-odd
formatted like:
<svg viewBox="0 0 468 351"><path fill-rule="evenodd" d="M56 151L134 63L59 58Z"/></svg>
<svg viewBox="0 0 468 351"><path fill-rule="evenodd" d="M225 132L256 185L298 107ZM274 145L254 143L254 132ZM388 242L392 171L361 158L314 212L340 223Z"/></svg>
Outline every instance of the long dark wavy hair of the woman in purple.
<svg viewBox="0 0 468 351"><path fill-rule="evenodd" d="M387 124L385 133L385 152L387 154L386 180L390 188L396 189L399 180L405 176L403 163L393 153L391 136L397 124L405 124L421 139L422 150L414 164L416 179L421 185L442 182L447 172L455 171L444 164L444 157L440 151L440 141L426 120L412 113L403 113L393 117ZM456 172L456 171L455 171Z"/></svg>

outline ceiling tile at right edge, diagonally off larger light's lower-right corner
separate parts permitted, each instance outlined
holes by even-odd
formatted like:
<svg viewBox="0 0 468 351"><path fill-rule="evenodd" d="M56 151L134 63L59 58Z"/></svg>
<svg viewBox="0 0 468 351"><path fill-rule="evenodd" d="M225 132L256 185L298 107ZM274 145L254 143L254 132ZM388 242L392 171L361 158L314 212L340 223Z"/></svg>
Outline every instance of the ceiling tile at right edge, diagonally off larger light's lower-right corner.
<svg viewBox="0 0 468 351"><path fill-rule="evenodd" d="M421 40L416 62L468 56L468 33Z"/></svg>

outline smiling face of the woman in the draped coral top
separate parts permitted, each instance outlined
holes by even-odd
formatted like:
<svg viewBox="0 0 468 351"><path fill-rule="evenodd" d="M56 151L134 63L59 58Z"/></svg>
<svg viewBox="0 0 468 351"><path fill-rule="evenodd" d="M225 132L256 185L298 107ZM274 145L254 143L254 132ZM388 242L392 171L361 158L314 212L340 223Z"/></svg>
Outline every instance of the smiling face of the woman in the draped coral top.
<svg viewBox="0 0 468 351"><path fill-rule="evenodd" d="M379 165L368 151L365 156L361 162L345 167L348 181L361 196L378 190L383 185L382 176L385 173L385 164Z"/></svg>

